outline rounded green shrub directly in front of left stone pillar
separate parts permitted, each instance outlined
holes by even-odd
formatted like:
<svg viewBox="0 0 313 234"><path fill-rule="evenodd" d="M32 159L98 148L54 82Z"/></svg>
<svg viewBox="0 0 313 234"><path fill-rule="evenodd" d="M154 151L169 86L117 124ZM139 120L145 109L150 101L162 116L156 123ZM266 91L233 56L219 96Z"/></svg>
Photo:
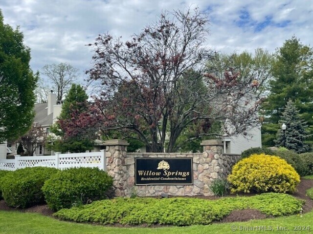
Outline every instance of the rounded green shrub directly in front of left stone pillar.
<svg viewBox="0 0 313 234"><path fill-rule="evenodd" d="M58 211L106 198L112 183L112 177L98 168L70 168L47 180L43 192L48 207Z"/></svg>

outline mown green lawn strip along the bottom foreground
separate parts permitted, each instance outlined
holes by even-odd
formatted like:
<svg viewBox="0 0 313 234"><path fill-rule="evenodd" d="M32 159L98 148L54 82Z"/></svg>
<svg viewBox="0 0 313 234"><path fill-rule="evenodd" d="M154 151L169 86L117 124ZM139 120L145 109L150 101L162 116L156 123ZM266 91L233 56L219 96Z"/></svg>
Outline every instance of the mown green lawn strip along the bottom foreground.
<svg viewBox="0 0 313 234"><path fill-rule="evenodd" d="M78 224L59 221L33 213L0 211L0 234L220 234L220 233L313 233L313 212L305 215L292 215L265 220L240 223L212 224L207 226L162 227L162 228L115 228L99 225ZM237 231L232 232L234 226ZM311 225L310 231L294 231L294 227ZM289 231L277 231L277 226ZM267 228L274 231L240 231L244 227Z"/></svg>

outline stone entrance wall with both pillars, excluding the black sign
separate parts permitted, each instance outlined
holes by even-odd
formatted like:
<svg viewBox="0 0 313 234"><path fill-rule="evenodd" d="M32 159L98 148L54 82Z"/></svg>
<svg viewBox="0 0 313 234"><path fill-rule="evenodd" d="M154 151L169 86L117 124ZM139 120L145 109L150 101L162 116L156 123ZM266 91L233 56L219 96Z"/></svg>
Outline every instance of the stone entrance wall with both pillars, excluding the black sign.
<svg viewBox="0 0 313 234"><path fill-rule="evenodd" d="M158 196L161 193L176 196L212 196L209 185L215 179L226 178L232 166L239 160L238 155L223 155L223 144L218 140L201 142L203 153L127 153L127 141L108 140L105 142L107 171L113 177L116 196ZM134 185L135 158L193 158L193 185Z"/></svg>

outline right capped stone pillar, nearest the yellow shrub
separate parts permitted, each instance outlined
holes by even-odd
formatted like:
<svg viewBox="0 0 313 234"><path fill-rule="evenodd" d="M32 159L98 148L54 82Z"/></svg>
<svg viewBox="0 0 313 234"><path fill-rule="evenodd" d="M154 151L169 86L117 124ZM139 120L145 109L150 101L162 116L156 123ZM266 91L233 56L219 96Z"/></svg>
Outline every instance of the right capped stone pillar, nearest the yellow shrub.
<svg viewBox="0 0 313 234"><path fill-rule="evenodd" d="M220 140L203 140L203 157L209 162L208 173L210 174L210 182L215 179L224 178L224 159L223 159L223 143Z"/></svg>

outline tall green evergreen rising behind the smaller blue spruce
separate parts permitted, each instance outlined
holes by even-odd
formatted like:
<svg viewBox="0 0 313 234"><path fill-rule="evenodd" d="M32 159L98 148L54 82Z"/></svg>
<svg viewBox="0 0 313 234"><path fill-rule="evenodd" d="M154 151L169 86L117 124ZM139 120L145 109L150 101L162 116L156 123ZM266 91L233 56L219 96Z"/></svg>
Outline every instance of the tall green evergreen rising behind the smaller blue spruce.
<svg viewBox="0 0 313 234"><path fill-rule="evenodd" d="M292 37L276 50L271 67L270 95L263 103L264 124L262 142L273 146L275 133L280 128L278 120L284 106L291 99L301 117L309 124L313 133L313 49Z"/></svg>

